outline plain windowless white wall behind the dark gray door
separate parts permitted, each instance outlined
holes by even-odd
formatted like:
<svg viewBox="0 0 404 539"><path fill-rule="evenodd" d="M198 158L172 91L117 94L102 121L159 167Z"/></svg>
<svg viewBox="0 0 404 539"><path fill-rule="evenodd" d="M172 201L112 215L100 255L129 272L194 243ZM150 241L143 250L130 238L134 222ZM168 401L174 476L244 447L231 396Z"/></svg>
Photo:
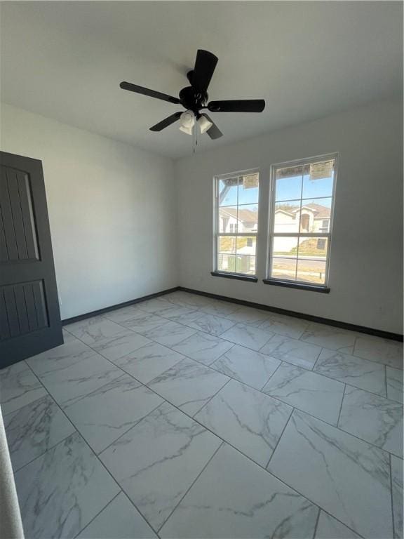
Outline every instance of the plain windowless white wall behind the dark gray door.
<svg viewBox="0 0 404 539"><path fill-rule="evenodd" d="M173 161L10 105L1 135L43 163L62 319L179 284Z"/></svg>

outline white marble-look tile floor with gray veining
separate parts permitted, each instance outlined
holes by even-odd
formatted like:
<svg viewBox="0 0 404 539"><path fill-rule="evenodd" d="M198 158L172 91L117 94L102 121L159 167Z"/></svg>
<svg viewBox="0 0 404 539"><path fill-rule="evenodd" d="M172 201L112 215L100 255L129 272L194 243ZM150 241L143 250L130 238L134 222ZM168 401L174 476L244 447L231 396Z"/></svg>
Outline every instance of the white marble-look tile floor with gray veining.
<svg viewBox="0 0 404 539"><path fill-rule="evenodd" d="M0 371L27 539L403 538L403 345L185 292Z"/></svg>

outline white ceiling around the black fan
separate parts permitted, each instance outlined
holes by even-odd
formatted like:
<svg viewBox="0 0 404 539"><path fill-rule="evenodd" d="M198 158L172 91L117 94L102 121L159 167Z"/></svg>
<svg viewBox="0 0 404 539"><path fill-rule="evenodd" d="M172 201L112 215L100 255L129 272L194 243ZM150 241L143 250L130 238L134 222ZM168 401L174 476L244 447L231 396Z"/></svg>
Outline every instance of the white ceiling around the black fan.
<svg viewBox="0 0 404 539"><path fill-rule="evenodd" d="M264 98L262 114L213 113L250 138L373 99L399 96L401 2L12 1L1 3L4 102L170 157L191 153L177 105L123 91L126 80L178 95L196 50L219 57L210 99Z"/></svg>

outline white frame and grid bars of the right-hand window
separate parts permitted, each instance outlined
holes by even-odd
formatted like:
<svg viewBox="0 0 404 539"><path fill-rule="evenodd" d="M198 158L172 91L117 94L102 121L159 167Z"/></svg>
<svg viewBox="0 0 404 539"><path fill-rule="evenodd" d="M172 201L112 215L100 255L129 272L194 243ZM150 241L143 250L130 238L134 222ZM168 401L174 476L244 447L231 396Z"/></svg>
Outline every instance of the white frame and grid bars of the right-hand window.
<svg viewBox="0 0 404 539"><path fill-rule="evenodd" d="M331 260L331 247L332 247L332 228L334 225L334 207L335 207L335 186L337 185L338 175L338 158L339 153L334 152L331 154L316 155L314 157L306 157L304 159L293 159L291 161L283 161L281 163L271 164L270 171L270 187L269 187L269 218L268 218L268 234L267 234L267 278L264 279L265 284L277 284L279 286L290 286L290 288L307 289L312 291L329 292L329 273L330 273L330 260ZM276 171L278 168L288 168L292 166L305 166L308 164L320 163L322 161L330 161L334 159L334 180L332 182L332 194L331 194L331 211L330 211L330 224L328 232L274 232L275 229L275 188L276 188ZM311 199L324 199L328 197L311 197ZM299 199L302 201L302 198ZM310 281L292 281L291 279L278 279L272 277L272 263L274 256L272 254L273 238L275 237L297 237L297 245L302 237L315 237L328 239L328 255L325 260L325 279L323 284L311 283ZM298 253L297 253L298 260Z"/></svg>

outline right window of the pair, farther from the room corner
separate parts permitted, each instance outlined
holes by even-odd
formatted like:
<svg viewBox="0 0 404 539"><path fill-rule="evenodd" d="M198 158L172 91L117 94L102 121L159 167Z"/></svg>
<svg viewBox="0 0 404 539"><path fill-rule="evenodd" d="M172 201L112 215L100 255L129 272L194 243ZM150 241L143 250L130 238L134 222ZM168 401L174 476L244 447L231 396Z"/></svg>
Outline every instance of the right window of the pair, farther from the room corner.
<svg viewBox="0 0 404 539"><path fill-rule="evenodd" d="M268 278L328 286L336 156L271 167Z"/></svg>

